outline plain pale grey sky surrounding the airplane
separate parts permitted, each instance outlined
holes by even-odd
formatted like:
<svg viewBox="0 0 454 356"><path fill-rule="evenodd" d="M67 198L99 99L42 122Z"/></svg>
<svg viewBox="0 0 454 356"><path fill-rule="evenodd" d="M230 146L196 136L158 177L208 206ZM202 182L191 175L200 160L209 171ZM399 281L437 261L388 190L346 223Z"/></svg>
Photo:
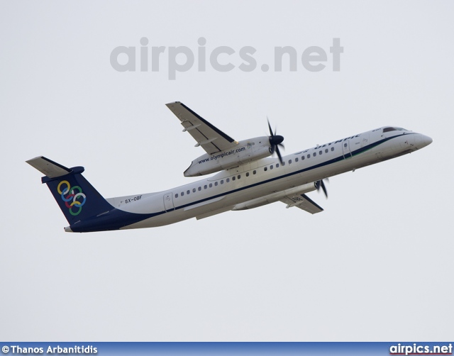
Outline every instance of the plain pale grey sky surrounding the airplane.
<svg viewBox="0 0 454 356"><path fill-rule="evenodd" d="M447 340L453 335L454 57L450 1L0 3L0 335L4 340ZM117 72L118 46L257 50L253 72L196 65L175 80ZM301 53L333 38L341 70ZM297 72L272 67L292 46ZM220 57L228 60L228 57ZM240 58L231 56L234 64ZM165 107L182 101L236 140L296 152L384 125L420 152L333 177L311 216L272 204L162 228L68 234L45 155L106 197L190 182L202 155Z"/></svg>

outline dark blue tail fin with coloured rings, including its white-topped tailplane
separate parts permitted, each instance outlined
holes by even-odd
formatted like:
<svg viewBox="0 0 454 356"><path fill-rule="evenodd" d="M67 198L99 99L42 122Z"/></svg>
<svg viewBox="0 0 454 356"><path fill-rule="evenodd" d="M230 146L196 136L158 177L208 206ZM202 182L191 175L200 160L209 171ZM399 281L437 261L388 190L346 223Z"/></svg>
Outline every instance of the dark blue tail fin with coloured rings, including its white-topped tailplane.
<svg viewBox="0 0 454 356"><path fill-rule="evenodd" d="M48 184L50 192L70 225L112 208L111 204L82 176L84 167L67 168L43 156L26 162L45 174L41 182Z"/></svg>

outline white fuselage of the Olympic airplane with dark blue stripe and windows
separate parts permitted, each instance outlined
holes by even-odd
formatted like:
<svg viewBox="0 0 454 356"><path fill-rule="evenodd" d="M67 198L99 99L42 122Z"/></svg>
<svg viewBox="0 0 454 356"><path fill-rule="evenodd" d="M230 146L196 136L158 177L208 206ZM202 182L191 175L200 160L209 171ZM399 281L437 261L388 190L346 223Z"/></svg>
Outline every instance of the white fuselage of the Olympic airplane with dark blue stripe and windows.
<svg viewBox="0 0 454 356"><path fill-rule="evenodd" d="M157 213L123 228L164 226L264 205L272 202L268 196L278 199L279 192L289 189L311 191L320 179L405 155L432 142L431 138L408 130L383 131L377 128L292 153L282 157L282 164L277 158L262 158L167 191L106 200L121 211Z"/></svg>

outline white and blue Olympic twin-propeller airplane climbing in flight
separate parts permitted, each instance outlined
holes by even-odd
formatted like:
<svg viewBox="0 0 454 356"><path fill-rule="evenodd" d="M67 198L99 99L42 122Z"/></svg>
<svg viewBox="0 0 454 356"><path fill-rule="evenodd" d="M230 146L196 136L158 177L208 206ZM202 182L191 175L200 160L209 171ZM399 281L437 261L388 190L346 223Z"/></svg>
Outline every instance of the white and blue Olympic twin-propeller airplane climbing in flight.
<svg viewBox="0 0 454 356"><path fill-rule="evenodd" d="M84 167L67 168L40 156L28 160L45 177L69 226L66 232L96 232L165 226L280 201L287 208L319 213L306 194L326 193L324 179L424 148L432 139L396 126L375 128L282 156L284 138L270 135L236 141L179 101L167 104L183 132L206 153L192 161L185 177L216 173L198 182L148 194L104 199L82 176ZM277 157L270 157L276 153Z"/></svg>

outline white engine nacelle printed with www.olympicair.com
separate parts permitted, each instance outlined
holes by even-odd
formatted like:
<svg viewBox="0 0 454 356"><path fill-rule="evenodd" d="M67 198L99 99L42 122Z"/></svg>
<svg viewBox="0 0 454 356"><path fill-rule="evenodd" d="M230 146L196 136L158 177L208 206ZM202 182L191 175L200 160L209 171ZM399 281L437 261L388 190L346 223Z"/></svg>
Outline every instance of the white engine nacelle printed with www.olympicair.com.
<svg viewBox="0 0 454 356"><path fill-rule="evenodd" d="M270 139L268 136L243 140L231 150L216 152L212 155L206 153L196 158L188 169L184 171L184 177L196 177L219 172L223 169L238 167L270 155Z"/></svg>

